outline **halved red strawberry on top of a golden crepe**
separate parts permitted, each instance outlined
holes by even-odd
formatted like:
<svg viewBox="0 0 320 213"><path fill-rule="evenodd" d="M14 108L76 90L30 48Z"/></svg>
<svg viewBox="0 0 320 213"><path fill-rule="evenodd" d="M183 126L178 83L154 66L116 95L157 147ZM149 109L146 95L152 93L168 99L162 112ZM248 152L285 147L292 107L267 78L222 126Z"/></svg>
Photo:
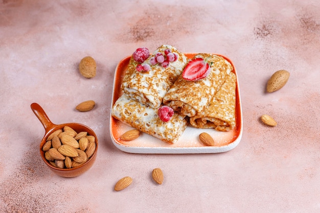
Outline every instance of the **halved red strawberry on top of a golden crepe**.
<svg viewBox="0 0 320 213"><path fill-rule="evenodd" d="M182 72L182 78L188 81L197 81L207 77L210 73L210 65L203 58L195 58L189 61Z"/></svg>

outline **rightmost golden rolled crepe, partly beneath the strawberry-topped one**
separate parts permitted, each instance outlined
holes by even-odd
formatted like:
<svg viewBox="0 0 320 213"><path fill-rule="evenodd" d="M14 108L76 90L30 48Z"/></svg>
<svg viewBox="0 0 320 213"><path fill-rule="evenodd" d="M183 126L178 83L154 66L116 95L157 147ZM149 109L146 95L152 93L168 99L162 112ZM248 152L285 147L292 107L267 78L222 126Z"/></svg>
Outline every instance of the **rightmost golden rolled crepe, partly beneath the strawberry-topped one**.
<svg viewBox="0 0 320 213"><path fill-rule="evenodd" d="M230 73L205 110L190 117L190 124L196 128L215 128L229 131L236 126L236 75Z"/></svg>

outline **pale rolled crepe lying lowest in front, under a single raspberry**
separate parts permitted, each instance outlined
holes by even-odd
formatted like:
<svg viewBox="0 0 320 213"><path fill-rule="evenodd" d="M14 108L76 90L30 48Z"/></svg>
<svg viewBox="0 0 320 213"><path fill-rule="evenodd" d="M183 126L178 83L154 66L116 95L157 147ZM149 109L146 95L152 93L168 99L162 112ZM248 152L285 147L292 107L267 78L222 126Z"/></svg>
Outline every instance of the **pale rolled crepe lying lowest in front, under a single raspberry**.
<svg viewBox="0 0 320 213"><path fill-rule="evenodd" d="M179 139L187 127L185 116L174 113L169 122L163 122L158 117L157 109L141 104L125 93L112 106L111 115L142 132L171 144Z"/></svg>

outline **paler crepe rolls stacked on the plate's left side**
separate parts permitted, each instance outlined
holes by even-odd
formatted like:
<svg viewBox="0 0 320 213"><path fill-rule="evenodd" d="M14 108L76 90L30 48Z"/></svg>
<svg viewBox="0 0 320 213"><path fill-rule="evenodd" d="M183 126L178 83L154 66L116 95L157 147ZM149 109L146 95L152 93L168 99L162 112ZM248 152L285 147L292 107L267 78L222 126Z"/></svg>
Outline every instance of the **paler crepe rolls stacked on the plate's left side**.
<svg viewBox="0 0 320 213"><path fill-rule="evenodd" d="M111 115L131 127L173 144L187 127L186 116L175 112L169 122L163 122L158 117L158 108L189 59L173 46L162 45L143 64L150 64L151 57L157 52L164 53L166 49L178 54L177 61L170 62L166 68L161 64L153 65L148 72L136 71L138 62L131 56L121 85L123 94L112 106Z"/></svg>

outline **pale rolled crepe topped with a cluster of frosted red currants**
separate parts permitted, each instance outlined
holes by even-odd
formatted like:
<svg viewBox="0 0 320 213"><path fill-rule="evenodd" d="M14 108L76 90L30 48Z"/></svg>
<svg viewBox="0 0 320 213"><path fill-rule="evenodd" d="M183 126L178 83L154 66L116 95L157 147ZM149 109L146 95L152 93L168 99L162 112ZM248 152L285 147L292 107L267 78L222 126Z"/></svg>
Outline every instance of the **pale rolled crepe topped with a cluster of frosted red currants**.
<svg viewBox="0 0 320 213"><path fill-rule="evenodd" d="M161 64L157 64L151 65L148 72L134 72L121 86L129 97L152 108L160 107L165 94L177 80L178 76L180 76L189 61L185 54L180 53L173 46L162 45L142 64L150 64L150 59L157 52L165 55L166 49L170 49L172 53L178 54L177 61L170 62L166 68L161 66Z"/></svg>

